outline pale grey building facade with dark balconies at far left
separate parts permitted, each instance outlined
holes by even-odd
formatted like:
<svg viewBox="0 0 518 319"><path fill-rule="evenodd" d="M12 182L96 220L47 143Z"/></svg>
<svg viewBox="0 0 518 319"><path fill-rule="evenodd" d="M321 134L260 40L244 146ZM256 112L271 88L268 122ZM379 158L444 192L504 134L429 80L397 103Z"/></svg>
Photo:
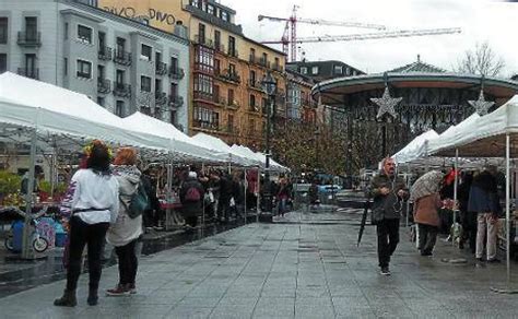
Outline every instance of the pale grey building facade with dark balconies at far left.
<svg viewBox="0 0 518 319"><path fill-rule="evenodd" d="M3 66L3 67L2 67ZM188 125L189 42L66 0L0 0L0 71L87 95L118 116Z"/></svg>

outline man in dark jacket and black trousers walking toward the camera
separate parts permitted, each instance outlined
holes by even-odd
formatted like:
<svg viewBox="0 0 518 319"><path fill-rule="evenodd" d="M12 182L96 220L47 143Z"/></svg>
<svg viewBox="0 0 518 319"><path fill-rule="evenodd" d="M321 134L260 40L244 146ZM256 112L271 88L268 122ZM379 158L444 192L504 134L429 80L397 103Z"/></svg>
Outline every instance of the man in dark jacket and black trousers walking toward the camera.
<svg viewBox="0 0 518 319"><path fill-rule="evenodd" d="M373 223L378 237L378 262L382 275L390 275L390 257L399 243L402 200L408 197L404 180L396 175L396 163L386 157L378 176L370 182Z"/></svg>

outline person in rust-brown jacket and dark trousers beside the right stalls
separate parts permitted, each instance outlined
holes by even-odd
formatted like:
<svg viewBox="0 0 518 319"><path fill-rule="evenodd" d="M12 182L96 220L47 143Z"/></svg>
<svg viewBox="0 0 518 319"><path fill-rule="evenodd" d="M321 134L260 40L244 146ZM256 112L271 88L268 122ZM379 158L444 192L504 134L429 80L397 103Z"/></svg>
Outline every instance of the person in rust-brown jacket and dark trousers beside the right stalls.
<svg viewBox="0 0 518 319"><path fill-rule="evenodd" d="M421 176L412 186L410 200L414 202L414 222L419 227L421 256L432 256L437 241L440 218L438 209L443 205L439 196L443 173L432 170Z"/></svg>

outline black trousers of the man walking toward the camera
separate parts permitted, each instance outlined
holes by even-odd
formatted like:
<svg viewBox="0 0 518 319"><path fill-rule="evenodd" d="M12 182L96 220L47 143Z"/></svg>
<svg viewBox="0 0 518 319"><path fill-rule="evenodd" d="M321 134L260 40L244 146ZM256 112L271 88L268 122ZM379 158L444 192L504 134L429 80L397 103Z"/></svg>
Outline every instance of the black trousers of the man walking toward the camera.
<svg viewBox="0 0 518 319"><path fill-rule="evenodd" d="M379 267L388 267L399 243L399 218L382 220L376 226Z"/></svg>

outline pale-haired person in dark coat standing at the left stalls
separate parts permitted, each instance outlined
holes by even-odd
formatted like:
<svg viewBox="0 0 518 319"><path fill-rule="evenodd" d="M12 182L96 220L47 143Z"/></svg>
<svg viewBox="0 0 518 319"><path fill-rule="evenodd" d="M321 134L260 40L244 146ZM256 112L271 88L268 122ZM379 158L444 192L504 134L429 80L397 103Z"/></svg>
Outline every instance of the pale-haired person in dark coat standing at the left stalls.
<svg viewBox="0 0 518 319"><path fill-rule="evenodd" d="M198 180L196 172L189 172L187 179L180 188L181 213L186 220L186 224L196 227L198 216L203 211L204 190Z"/></svg>

